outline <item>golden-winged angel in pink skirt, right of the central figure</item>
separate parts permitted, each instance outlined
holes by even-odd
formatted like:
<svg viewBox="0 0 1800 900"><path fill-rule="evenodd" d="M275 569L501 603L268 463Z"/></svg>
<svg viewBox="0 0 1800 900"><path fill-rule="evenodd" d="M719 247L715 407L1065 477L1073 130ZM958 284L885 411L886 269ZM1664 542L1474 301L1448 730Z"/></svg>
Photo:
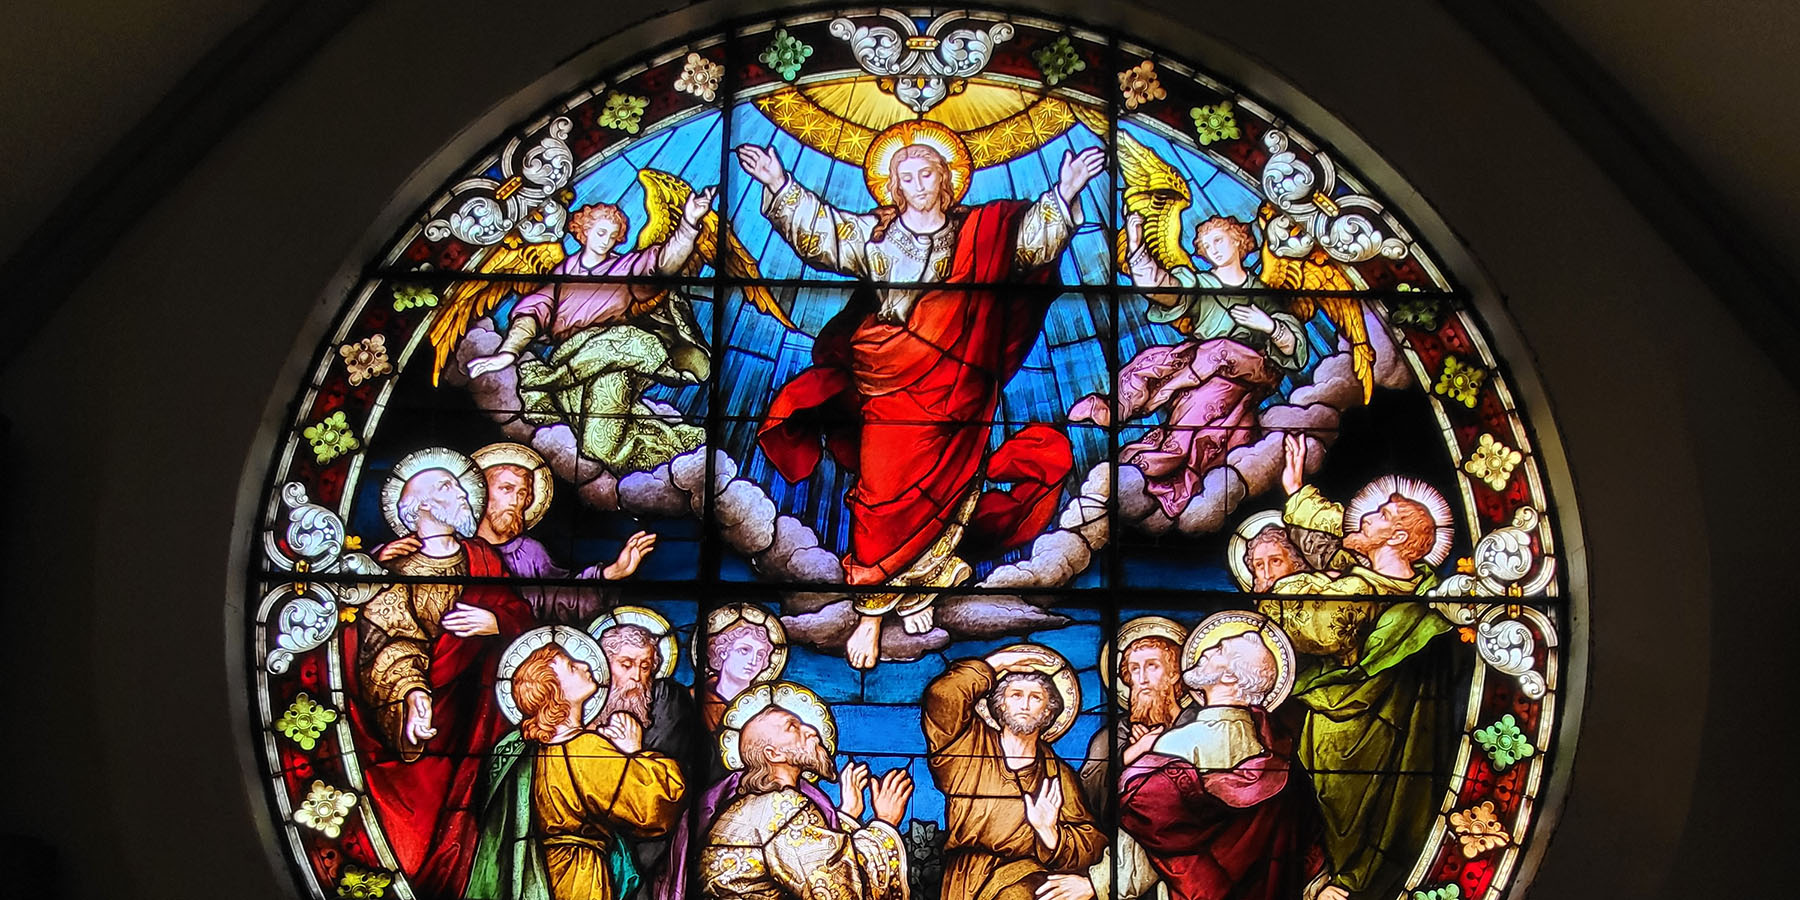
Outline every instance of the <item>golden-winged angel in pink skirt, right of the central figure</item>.
<svg viewBox="0 0 1800 900"><path fill-rule="evenodd" d="M1211 216L1193 229L1201 268L1181 245L1181 212L1193 194L1186 178L1127 133L1120 133L1120 176L1125 182L1125 230L1118 239L1120 268L1145 288L1148 319L1181 331L1186 340L1148 347L1118 380L1121 421L1163 414L1163 425L1120 448L1120 463L1143 472L1163 511L1179 517L1199 493L1206 472L1231 450L1262 437L1258 410L1282 378L1307 365L1303 322L1325 310L1352 346L1363 398L1373 387L1373 349L1354 297L1278 299L1276 290L1348 290L1343 270L1321 259L1287 259L1264 247L1262 277L1246 268L1258 252L1249 223ZM1267 214L1262 216L1267 227ZM1229 293L1244 290L1246 293ZM1100 394L1082 398L1071 421L1111 425Z"/></svg>

